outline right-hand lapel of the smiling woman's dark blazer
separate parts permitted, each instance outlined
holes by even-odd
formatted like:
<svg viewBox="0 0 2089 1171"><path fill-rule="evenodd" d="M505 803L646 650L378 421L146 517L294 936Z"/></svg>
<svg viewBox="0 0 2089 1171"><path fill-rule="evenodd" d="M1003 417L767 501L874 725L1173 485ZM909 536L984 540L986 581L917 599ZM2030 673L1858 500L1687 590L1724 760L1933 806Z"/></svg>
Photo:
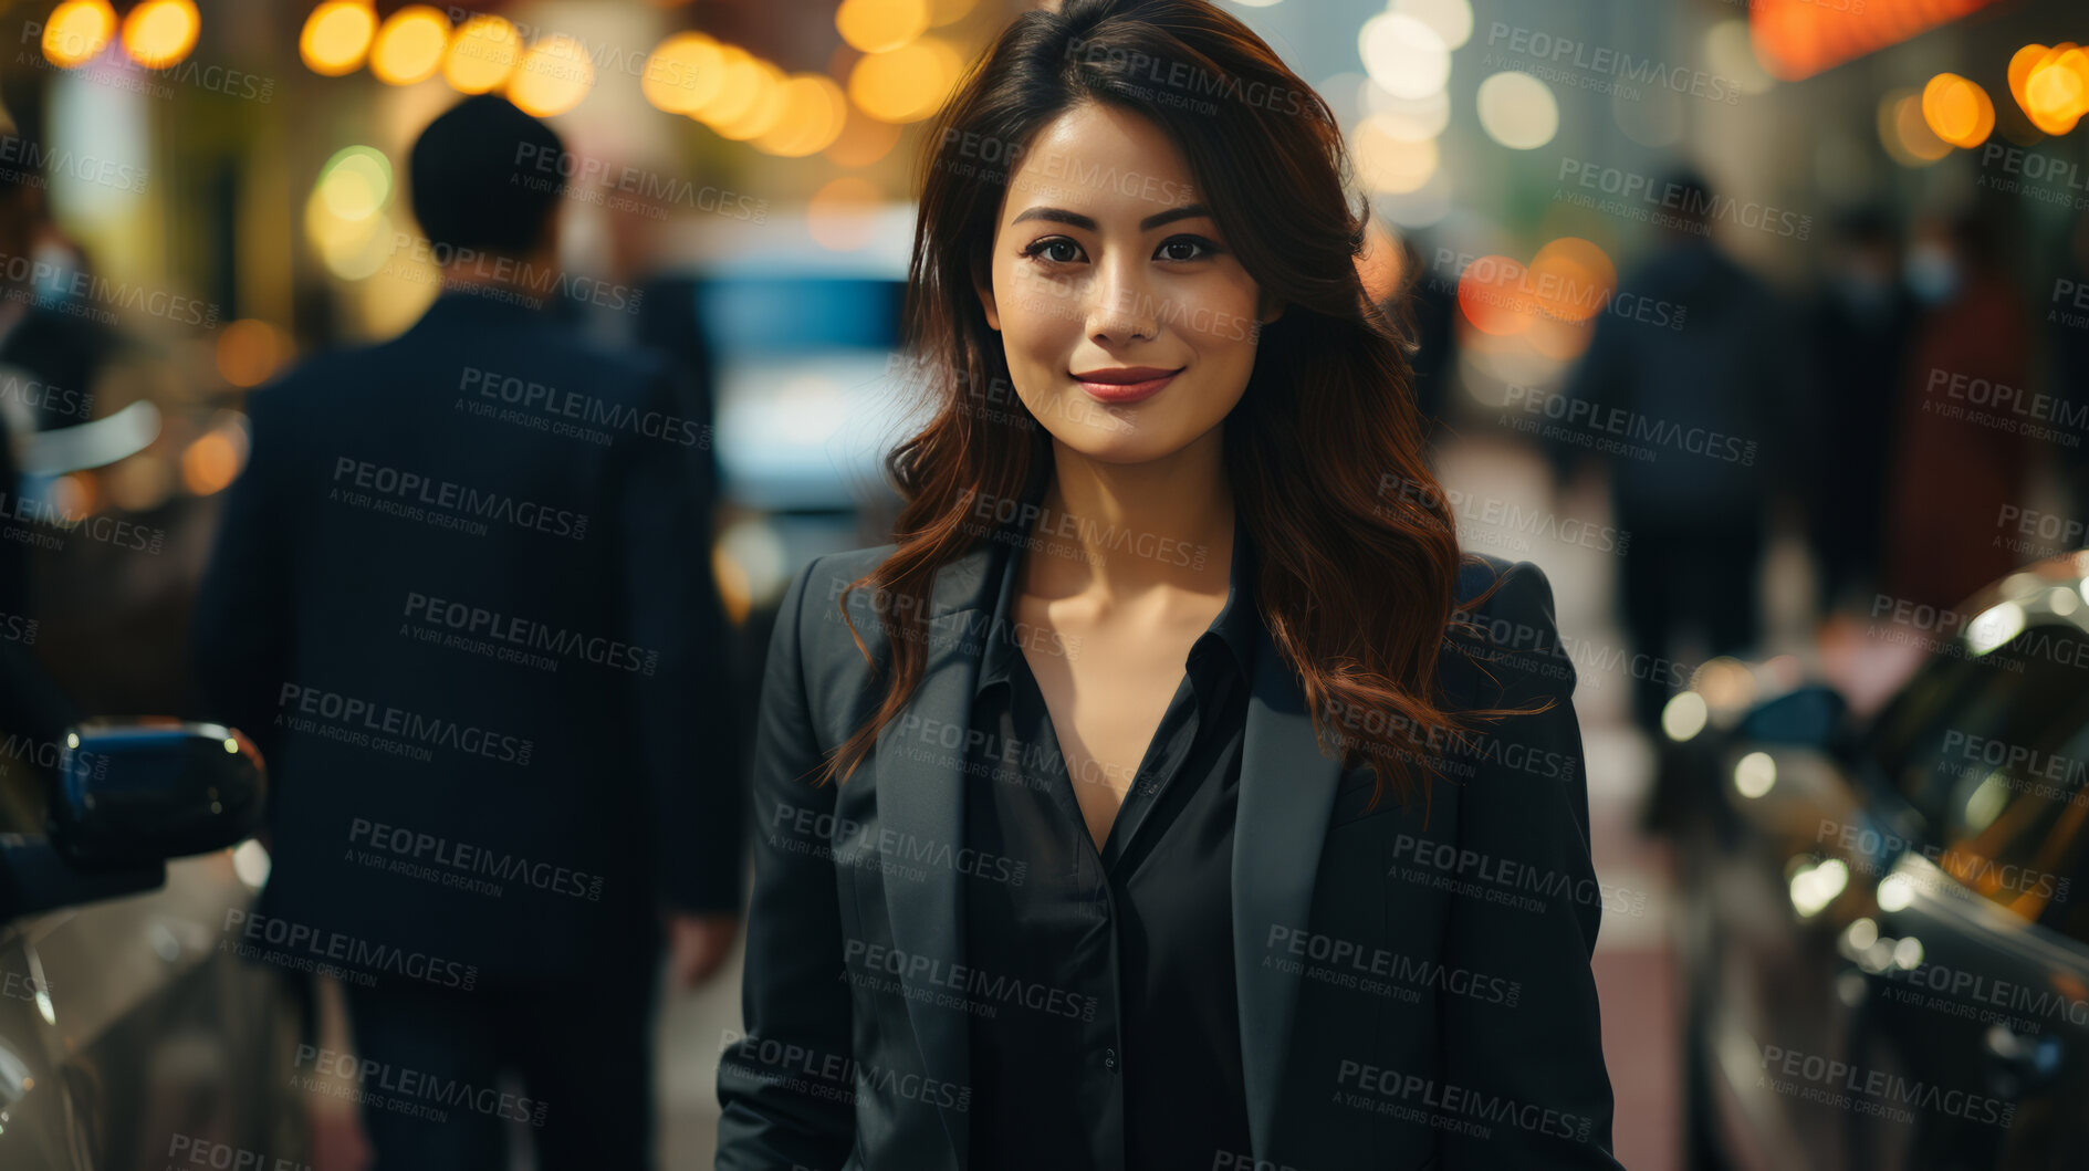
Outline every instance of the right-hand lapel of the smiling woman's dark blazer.
<svg viewBox="0 0 2089 1171"><path fill-rule="evenodd" d="M1339 758L1322 756L1304 693L1264 630L1247 697L1233 825L1233 973L1241 996L1247 1127L1258 1161L1276 1161L1270 1136L1301 983L1262 960L1270 956L1272 927L1308 927L1339 776Z"/></svg>

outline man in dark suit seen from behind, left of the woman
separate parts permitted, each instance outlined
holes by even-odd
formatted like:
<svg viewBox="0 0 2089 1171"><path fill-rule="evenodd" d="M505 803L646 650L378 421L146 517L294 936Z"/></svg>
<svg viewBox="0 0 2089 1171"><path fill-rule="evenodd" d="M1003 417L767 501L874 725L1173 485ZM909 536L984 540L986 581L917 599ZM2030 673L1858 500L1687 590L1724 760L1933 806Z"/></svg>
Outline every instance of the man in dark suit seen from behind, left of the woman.
<svg viewBox="0 0 2089 1171"><path fill-rule="evenodd" d="M274 870L234 943L332 971L376 1167L648 1167L662 927L731 946L744 772L710 576L708 424L675 374L537 313L558 152L501 98L414 146L443 292L393 342L249 403L194 653L272 770ZM412 265L397 269L418 271Z"/></svg>

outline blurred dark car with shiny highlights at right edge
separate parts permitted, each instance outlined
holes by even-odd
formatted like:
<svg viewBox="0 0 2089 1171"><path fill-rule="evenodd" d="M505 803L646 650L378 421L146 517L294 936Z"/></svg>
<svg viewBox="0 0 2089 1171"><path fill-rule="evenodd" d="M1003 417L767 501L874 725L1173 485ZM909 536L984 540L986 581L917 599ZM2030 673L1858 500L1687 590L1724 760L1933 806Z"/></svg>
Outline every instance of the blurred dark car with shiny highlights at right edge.
<svg viewBox="0 0 2089 1171"><path fill-rule="evenodd" d="M2089 1165L2089 551L1959 614L1872 720L1790 662L1667 712L1690 1167Z"/></svg>

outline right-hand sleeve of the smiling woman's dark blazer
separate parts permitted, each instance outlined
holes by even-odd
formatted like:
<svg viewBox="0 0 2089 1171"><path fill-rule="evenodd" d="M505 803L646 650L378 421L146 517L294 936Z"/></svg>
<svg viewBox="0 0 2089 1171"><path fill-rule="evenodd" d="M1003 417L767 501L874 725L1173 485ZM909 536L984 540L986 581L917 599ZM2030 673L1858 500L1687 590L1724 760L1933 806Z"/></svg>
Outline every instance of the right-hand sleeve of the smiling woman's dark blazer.
<svg viewBox="0 0 2089 1171"><path fill-rule="evenodd" d="M1483 724L1458 795L1458 850L1489 866L1519 866L1544 893L1533 895L1542 910L1481 898L1458 898L1452 908L1443 964L1512 981L1517 1006L1446 1000L1441 1092L1485 1104L1492 1121L1446 1131L1443 1171L1615 1171L1611 1075L1590 971L1602 902L1588 845L1573 662L1558 645L1552 587L1529 561L1502 576L1485 620L1492 645L1475 660L1498 687L1483 683L1481 706L1552 706Z"/></svg>

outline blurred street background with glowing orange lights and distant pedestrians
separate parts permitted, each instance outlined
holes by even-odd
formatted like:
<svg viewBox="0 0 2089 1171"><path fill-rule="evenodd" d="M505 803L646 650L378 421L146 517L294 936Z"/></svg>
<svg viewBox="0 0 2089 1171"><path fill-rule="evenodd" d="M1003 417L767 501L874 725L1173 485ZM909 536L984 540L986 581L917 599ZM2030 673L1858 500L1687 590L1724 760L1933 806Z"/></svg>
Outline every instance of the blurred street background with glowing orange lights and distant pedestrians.
<svg viewBox="0 0 2089 1171"><path fill-rule="evenodd" d="M1686 1167L1663 745L1771 683L1872 712L1922 658L1893 637L1911 614L2085 543L2089 8L1222 6L1349 132L1462 543L1552 580L1611 887L1617 1154ZM0 6L0 169L31 192L0 257L4 536L36 658L81 712L184 710L247 395L428 307L405 150L503 92L566 144L531 161L566 184L545 311L708 388L712 570L756 691L792 574L888 539L921 123L1022 8ZM255 885L265 860L236 862ZM666 1167L708 1167L737 971L664 1000ZM307 1104L311 1165L359 1167L353 1106Z"/></svg>

